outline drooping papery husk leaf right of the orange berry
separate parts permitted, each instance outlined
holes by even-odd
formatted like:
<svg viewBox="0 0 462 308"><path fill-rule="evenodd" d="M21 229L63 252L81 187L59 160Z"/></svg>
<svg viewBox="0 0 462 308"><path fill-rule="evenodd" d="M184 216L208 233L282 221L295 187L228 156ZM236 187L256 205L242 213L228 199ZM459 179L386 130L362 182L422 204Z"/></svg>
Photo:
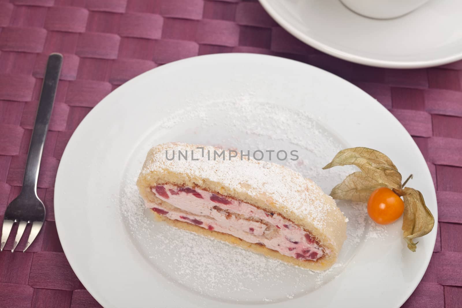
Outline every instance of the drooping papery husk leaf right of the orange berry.
<svg viewBox="0 0 462 308"><path fill-rule="evenodd" d="M404 240L407 242L407 248L415 252L417 243L414 243L413 239L432 231L435 219L426 207L422 193L418 190L405 187L399 194L404 199L402 226Z"/></svg>

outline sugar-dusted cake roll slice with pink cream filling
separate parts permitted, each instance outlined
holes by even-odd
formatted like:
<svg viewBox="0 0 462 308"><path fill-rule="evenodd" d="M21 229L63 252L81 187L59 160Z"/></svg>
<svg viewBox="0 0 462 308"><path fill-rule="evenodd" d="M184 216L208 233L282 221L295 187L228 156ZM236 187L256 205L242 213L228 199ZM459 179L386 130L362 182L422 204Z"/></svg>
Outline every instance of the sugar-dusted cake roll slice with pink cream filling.
<svg viewBox="0 0 462 308"><path fill-rule="evenodd" d="M171 225L313 270L332 266L346 218L310 179L237 151L166 143L153 147L137 185Z"/></svg>

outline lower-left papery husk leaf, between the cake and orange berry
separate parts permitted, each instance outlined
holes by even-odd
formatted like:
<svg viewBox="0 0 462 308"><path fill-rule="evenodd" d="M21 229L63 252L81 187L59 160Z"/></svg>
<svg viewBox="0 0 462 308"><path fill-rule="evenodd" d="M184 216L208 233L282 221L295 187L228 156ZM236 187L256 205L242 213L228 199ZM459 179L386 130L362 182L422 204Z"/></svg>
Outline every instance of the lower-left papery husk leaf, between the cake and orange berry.
<svg viewBox="0 0 462 308"><path fill-rule="evenodd" d="M371 177L358 171L348 175L343 182L335 186L330 192L330 196L334 199L367 203L374 190L385 186L385 184L374 181Z"/></svg>

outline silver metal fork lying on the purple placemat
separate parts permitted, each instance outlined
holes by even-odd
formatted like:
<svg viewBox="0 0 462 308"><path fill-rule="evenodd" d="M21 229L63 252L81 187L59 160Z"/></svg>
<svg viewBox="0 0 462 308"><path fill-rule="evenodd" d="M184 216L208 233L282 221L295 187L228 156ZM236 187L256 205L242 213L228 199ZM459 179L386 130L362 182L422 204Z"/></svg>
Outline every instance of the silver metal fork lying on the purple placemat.
<svg viewBox="0 0 462 308"><path fill-rule="evenodd" d="M61 54L53 53L49 55L34 130L30 139L23 187L19 196L6 207L1 233L0 252L5 247L13 224L18 223L18 231L16 232L11 252L14 252L14 249L18 246L26 225L28 223L32 224L29 239L23 250L24 252L34 242L45 221L45 206L37 196L37 179L40 161L42 160L43 145L47 136L53 103L55 102L61 64Z"/></svg>

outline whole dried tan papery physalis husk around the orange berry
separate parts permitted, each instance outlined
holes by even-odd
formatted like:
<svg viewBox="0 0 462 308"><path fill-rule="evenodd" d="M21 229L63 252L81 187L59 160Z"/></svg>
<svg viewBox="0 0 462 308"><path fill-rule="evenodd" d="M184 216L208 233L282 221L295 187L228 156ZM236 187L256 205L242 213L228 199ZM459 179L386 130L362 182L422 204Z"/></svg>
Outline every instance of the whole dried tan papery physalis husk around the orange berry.
<svg viewBox="0 0 462 308"><path fill-rule="evenodd" d="M364 147L345 149L335 155L332 162L322 169L334 166L355 165L360 172L348 175L335 186L330 195L334 199L365 202L379 187L388 187L404 199L403 235L407 248L415 251L413 239L424 236L433 229L435 220L425 205L422 194L413 188L402 189L401 174L385 154Z"/></svg>

